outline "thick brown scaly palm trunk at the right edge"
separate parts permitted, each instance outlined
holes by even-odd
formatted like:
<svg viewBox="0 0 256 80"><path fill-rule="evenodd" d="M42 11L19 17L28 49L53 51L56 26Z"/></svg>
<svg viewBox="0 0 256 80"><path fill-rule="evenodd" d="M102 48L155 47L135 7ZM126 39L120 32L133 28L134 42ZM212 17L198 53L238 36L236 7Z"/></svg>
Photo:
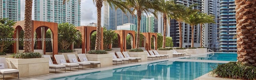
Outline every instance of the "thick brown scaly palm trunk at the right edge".
<svg viewBox="0 0 256 80"><path fill-rule="evenodd" d="M256 0L235 0L237 59L256 66Z"/></svg>

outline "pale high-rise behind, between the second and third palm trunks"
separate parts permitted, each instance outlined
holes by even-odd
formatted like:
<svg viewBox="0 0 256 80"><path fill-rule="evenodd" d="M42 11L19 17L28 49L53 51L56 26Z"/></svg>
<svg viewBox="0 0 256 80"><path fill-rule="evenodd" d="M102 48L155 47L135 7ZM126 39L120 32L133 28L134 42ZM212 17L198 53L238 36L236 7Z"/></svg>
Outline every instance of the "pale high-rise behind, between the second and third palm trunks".
<svg viewBox="0 0 256 80"><path fill-rule="evenodd" d="M131 9L132 10L132 9ZM108 30L116 30L117 26L132 23L134 24L134 17L132 14L122 12L120 8L117 10L104 2L104 27Z"/></svg>

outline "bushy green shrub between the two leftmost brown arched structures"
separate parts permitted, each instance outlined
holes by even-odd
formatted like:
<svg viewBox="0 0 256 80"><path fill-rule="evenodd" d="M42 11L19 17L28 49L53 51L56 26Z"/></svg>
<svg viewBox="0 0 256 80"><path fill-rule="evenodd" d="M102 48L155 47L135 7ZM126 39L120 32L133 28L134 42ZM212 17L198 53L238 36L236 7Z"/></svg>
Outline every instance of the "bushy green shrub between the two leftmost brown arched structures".
<svg viewBox="0 0 256 80"><path fill-rule="evenodd" d="M66 60L68 60L67 54L75 54L78 52L70 50L71 44L78 37L76 27L73 24L61 23L58 24L58 54L63 54Z"/></svg>

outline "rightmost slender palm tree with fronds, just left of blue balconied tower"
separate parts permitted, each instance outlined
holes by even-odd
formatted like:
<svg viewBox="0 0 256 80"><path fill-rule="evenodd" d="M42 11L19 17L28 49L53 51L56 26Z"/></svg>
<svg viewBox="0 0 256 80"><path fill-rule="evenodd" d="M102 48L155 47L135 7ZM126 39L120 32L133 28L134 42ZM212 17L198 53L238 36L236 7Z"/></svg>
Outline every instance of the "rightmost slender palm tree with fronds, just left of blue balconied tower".
<svg viewBox="0 0 256 80"><path fill-rule="evenodd" d="M214 22L214 16L213 16L213 15L207 15L207 13L200 13L200 14L198 15L198 17L199 17L200 19L202 19L201 22L200 22L200 47L203 47L203 44L202 44L202 42L203 42L203 40L202 40L203 24L206 24L206 23L215 23L215 22Z"/></svg>

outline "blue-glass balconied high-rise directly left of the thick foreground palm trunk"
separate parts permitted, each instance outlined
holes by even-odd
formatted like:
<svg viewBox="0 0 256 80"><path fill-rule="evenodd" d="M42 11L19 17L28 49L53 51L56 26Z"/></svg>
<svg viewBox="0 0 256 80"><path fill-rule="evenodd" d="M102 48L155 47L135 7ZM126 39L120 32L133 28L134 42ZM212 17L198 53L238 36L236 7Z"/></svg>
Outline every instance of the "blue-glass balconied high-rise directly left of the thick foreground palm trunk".
<svg viewBox="0 0 256 80"><path fill-rule="evenodd" d="M235 0L220 0L220 52L236 52Z"/></svg>

